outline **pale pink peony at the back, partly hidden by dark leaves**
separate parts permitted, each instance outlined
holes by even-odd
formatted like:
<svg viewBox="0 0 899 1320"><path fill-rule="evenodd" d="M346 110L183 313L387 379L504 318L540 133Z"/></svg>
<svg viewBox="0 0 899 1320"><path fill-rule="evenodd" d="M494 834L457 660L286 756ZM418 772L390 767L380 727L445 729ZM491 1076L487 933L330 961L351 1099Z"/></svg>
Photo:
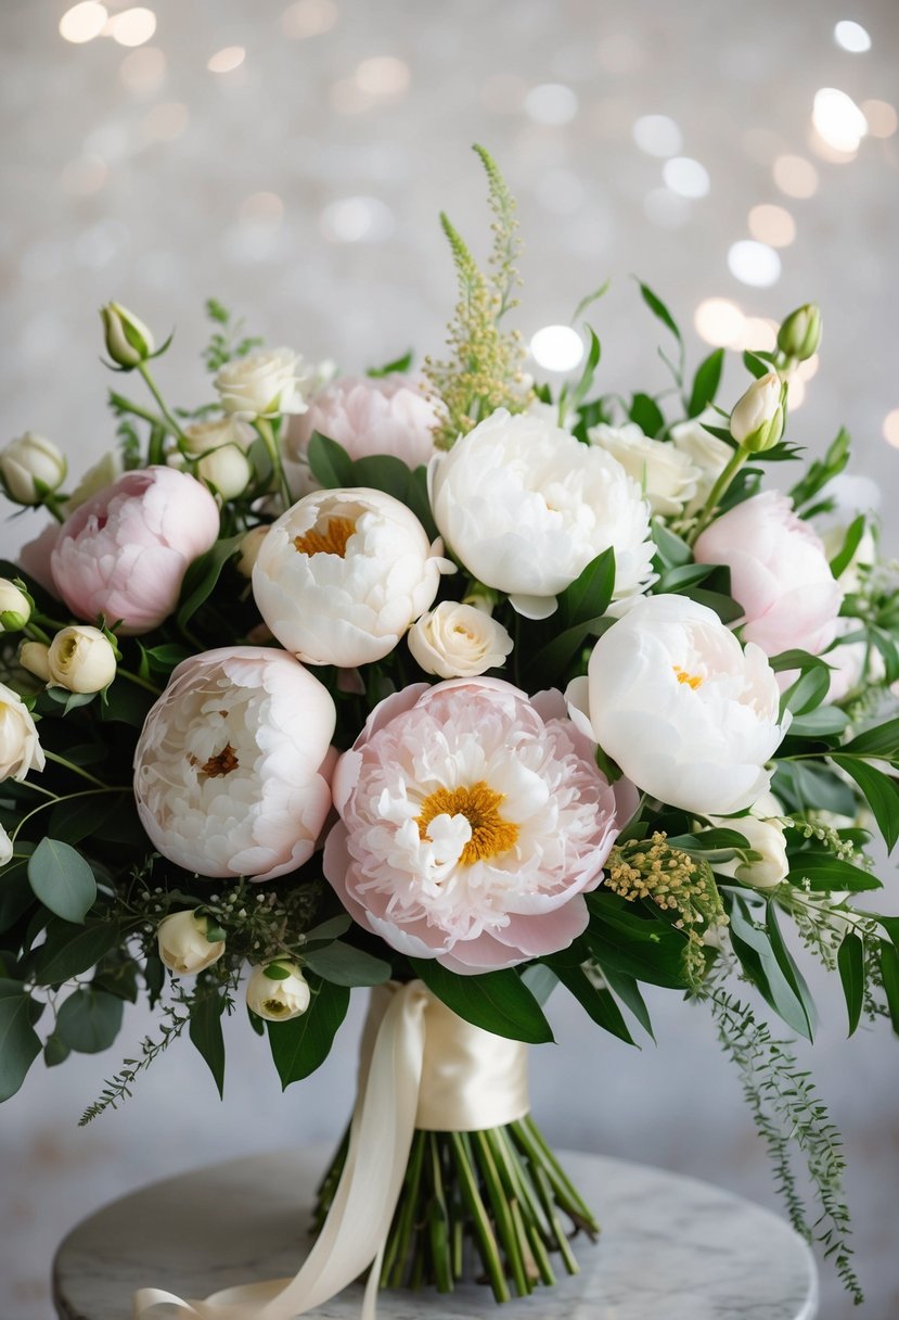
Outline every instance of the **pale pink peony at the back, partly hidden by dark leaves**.
<svg viewBox="0 0 899 1320"><path fill-rule="evenodd" d="M434 454L434 404L409 376L344 376L312 399L308 412L291 422L287 466L297 495L316 488L306 461L312 432L335 440L351 458L393 454L409 467L427 463Z"/></svg>

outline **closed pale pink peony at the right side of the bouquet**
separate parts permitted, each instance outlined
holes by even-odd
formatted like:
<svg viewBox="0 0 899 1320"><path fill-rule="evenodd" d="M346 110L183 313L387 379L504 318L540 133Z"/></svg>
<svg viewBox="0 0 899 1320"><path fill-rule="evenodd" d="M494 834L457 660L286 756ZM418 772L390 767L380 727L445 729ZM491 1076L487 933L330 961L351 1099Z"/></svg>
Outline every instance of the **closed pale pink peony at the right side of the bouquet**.
<svg viewBox="0 0 899 1320"><path fill-rule="evenodd" d="M776 656L798 647L819 655L837 632L842 587L817 532L779 491L737 504L693 546L697 564L726 564L745 614L742 636ZM740 626L740 624L738 624Z"/></svg>

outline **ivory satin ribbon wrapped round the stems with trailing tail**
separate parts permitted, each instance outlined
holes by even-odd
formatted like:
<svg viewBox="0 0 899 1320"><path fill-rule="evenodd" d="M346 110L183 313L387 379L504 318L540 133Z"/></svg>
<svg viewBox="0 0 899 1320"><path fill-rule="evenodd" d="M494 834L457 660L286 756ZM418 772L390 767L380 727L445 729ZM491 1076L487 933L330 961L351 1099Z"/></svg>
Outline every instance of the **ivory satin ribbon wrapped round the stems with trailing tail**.
<svg viewBox="0 0 899 1320"><path fill-rule="evenodd" d="M293 1279L269 1279L185 1302L134 1294L134 1320L295 1320L372 1266L361 1320L376 1320L381 1259L417 1127L478 1131L529 1110L527 1051L463 1022L420 981L378 987L362 1035L359 1100L334 1203Z"/></svg>

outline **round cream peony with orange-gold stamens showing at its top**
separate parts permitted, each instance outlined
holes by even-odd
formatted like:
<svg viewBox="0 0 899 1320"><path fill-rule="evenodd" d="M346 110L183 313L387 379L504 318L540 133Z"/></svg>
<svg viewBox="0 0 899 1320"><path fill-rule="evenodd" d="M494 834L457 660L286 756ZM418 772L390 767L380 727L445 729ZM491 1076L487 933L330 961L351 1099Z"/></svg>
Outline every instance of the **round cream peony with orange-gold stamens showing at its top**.
<svg viewBox="0 0 899 1320"><path fill-rule="evenodd" d="M392 495L314 491L272 524L253 569L265 623L307 664L381 660L455 572Z"/></svg>

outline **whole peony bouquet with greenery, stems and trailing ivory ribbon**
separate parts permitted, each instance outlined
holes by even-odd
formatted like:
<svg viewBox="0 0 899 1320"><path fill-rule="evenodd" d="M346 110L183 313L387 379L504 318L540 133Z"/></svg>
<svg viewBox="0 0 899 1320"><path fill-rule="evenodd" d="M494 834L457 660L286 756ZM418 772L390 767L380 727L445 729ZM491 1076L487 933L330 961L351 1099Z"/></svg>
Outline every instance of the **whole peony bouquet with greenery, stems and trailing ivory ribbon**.
<svg viewBox="0 0 899 1320"><path fill-rule="evenodd" d="M199 1309L144 1290L137 1315L286 1320L372 1263L370 1292L473 1272L497 1300L576 1270L597 1224L525 1068L556 985L625 1041L651 1034L642 983L710 1010L792 1222L861 1298L838 1134L759 1012L811 1039L799 942L850 1032L899 1026L899 917L854 906L871 830L899 836L896 578L846 507L844 432L790 475L819 312L743 354L729 413L724 351L688 376L643 285L674 389L601 393L589 326L579 379L539 384L478 154L494 249L484 273L443 218L444 360L335 378L210 302L218 397L185 411L153 375L169 341L111 304L109 366L150 396L109 393L117 450L69 495L50 441L0 454L53 516L0 583L0 1097L111 1045L140 994L158 1034L84 1121L185 1034L221 1089L244 978L287 1086L374 987L297 1278Z"/></svg>

